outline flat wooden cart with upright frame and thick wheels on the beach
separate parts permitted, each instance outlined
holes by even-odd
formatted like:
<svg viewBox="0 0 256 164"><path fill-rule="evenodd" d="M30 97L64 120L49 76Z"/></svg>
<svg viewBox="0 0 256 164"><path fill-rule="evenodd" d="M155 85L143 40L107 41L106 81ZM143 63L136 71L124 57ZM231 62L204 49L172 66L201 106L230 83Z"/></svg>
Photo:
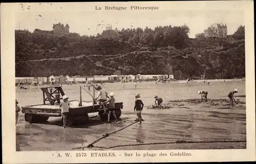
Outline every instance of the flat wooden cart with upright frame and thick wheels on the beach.
<svg viewBox="0 0 256 164"><path fill-rule="evenodd" d="M43 104L22 106L22 113L25 114L25 120L29 123L46 122L49 117L61 117L59 105L62 96L65 95L62 87L50 86L40 89L42 90ZM107 104L107 107L108 105L109 104ZM122 108L122 102L115 102L115 114L117 118L121 116ZM102 121L108 120L108 114L103 115L103 110L100 105L96 103L94 97L92 101L82 101L81 86L80 100L71 100L69 111L68 126L75 125L76 123L86 123L89 119L88 113L98 112ZM108 112L108 109L106 111ZM113 116L111 116L111 119L113 119Z"/></svg>

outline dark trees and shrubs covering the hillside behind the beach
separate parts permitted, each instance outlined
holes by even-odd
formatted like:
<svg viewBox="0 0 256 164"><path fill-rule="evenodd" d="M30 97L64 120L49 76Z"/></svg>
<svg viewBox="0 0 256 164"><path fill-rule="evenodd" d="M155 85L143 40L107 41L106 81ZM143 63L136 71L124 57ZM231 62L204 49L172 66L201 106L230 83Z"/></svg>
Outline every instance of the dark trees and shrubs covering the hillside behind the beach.
<svg viewBox="0 0 256 164"><path fill-rule="evenodd" d="M189 28L122 29L113 37L54 37L15 31L16 76L174 74L175 78L245 76L244 26L227 38L188 38ZM113 31L114 34L114 31Z"/></svg>

